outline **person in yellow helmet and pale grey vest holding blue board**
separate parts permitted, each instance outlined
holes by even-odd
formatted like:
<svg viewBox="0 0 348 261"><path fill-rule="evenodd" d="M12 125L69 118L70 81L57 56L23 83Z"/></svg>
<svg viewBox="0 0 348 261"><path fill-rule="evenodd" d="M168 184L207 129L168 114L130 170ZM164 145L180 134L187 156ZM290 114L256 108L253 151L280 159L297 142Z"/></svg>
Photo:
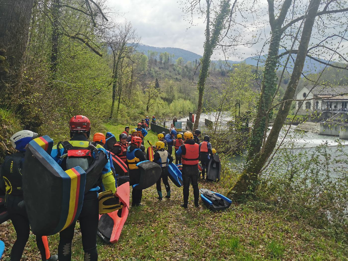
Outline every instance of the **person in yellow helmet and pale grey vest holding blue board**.
<svg viewBox="0 0 348 261"><path fill-rule="evenodd" d="M163 141L158 141L156 142L155 145L156 145L157 151L155 155L153 156L153 162L157 163L162 169L161 176L156 182L156 188L158 193L158 199L162 200L161 179L163 180L163 184L166 187L166 192L167 192L166 198L171 197L171 187L169 186L169 183L168 183L168 165L173 162L173 157L172 155L169 154L168 151L164 149Z"/></svg>

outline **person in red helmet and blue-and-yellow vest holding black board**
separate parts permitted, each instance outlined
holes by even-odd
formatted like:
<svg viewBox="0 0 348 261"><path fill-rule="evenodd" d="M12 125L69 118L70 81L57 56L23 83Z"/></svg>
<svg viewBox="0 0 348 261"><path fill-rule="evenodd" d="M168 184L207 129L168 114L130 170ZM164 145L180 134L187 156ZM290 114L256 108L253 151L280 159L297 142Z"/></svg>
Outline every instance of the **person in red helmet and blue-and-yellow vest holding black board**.
<svg viewBox="0 0 348 261"><path fill-rule="evenodd" d="M140 181L140 169L136 166L140 161L146 160L144 153L141 151L140 146L142 143L141 137L132 137L130 145L127 149L127 161L129 169L129 183L131 186L139 184ZM141 206L141 197L143 195L142 189L136 187L132 190L132 207Z"/></svg>

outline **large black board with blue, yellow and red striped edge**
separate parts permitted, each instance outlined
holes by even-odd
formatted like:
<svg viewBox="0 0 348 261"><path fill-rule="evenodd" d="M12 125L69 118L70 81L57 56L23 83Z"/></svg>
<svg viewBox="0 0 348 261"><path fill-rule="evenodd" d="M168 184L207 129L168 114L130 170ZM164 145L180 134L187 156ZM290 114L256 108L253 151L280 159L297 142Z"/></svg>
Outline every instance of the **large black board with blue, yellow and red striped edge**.
<svg viewBox="0 0 348 261"><path fill-rule="evenodd" d="M27 147L23 196L35 235L54 235L75 222L84 199L86 173L79 166L63 171L49 155L53 140L42 136Z"/></svg>

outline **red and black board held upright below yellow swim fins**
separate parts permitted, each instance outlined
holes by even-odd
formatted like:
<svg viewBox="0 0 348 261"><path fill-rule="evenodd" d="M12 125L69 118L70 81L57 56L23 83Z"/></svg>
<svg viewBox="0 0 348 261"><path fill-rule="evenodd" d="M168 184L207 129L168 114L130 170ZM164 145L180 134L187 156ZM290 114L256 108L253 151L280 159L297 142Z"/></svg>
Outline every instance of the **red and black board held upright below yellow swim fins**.
<svg viewBox="0 0 348 261"><path fill-rule="evenodd" d="M98 235L108 243L116 243L118 241L123 225L127 220L129 212L129 182L117 188L116 196L120 199L120 202L122 202L123 208L108 214L99 215ZM111 218L113 221L112 228L107 229L107 231L111 231L111 235L103 235L103 231L100 229L103 226L103 224L101 224L101 217L104 215L108 215L108 219L110 220Z"/></svg>

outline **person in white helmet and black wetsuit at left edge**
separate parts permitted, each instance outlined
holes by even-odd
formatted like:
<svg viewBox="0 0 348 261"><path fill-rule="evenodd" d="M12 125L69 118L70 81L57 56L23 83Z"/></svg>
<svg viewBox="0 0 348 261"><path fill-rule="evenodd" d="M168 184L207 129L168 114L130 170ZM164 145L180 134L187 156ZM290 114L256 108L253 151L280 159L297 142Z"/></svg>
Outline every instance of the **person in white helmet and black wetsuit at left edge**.
<svg viewBox="0 0 348 261"><path fill-rule="evenodd" d="M7 157L0 167L0 189L6 191L5 206L7 213L15 228L17 239L11 249L11 261L20 261L26 242L29 239L30 224L23 201L22 173L24 171L24 156L26 145L35 137L37 133L30 130L21 130L11 136L11 144L17 151ZM40 250L42 260L58 260L57 255L50 256L46 236L36 236L36 243ZM0 257L1 258L1 257Z"/></svg>

